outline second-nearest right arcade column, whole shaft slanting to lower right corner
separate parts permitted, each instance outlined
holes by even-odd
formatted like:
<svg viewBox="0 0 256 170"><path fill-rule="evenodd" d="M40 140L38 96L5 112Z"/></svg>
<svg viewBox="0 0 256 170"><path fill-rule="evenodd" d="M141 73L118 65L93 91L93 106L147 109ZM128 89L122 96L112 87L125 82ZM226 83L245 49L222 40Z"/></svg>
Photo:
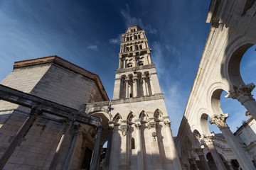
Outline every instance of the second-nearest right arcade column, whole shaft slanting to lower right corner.
<svg viewBox="0 0 256 170"><path fill-rule="evenodd" d="M210 124L215 123L220 131L223 133L225 140L227 140L228 145L231 147L232 152L235 154L235 157L238 160L238 163L242 167L242 169L255 169L255 166L252 164L245 151L240 146L239 142L235 139L233 132L231 132L230 128L226 123L226 119L228 118L228 113L220 114L220 115L213 115L210 118Z"/></svg>

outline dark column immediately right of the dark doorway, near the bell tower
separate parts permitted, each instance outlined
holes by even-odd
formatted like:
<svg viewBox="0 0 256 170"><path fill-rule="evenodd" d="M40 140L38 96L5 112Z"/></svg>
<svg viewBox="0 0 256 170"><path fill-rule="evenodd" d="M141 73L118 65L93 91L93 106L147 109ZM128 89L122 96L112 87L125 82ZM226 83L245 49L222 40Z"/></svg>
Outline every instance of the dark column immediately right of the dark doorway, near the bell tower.
<svg viewBox="0 0 256 170"><path fill-rule="evenodd" d="M97 137L95 140L95 146L92 152L92 161L91 161L91 165L90 165L90 170L95 170L97 169L97 166L99 164L98 162L98 157L100 157L100 138L102 135L102 126L98 126L97 128Z"/></svg>

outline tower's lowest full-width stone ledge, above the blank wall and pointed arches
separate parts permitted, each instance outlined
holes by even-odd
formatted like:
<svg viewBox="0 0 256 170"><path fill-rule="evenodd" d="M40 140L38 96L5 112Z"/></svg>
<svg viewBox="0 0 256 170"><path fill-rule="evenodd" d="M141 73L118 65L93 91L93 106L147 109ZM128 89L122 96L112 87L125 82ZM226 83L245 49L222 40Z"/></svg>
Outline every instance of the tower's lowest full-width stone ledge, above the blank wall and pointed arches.
<svg viewBox="0 0 256 170"><path fill-rule="evenodd" d="M159 99L164 99L164 94L160 93L160 94L154 94L152 96L112 99L111 105L123 104L123 103L135 103L140 101L154 101Z"/></svg>

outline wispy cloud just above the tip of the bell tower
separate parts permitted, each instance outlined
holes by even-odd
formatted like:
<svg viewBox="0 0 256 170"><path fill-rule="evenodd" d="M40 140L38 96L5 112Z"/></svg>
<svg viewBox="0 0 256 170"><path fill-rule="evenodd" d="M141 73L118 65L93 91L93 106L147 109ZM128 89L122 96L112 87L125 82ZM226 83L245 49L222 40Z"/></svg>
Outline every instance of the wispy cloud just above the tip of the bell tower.
<svg viewBox="0 0 256 170"><path fill-rule="evenodd" d="M136 18L131 15L131 11L129 8L129 5L126 4L126 8L121 10L122 17L124 18L125 25L133 26L138 25L142 27L142 29L146 30L146 33L156 34L157 30L155 28L152 28L150 24L144 24L142 22L142 18Z"/></svg>

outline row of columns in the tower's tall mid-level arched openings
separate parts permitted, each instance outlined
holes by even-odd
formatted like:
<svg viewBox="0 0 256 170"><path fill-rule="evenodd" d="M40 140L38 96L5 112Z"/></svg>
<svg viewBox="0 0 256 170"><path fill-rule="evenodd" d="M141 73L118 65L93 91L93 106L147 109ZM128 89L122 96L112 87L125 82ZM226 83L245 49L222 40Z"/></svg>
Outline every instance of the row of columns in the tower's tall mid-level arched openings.
<svg viewBox="0 0 256 170"><path fill-rule="evenodd" d="M149 74L122 77L120 80L120 98L150 96L154 94L152 79Z"/></svg>

